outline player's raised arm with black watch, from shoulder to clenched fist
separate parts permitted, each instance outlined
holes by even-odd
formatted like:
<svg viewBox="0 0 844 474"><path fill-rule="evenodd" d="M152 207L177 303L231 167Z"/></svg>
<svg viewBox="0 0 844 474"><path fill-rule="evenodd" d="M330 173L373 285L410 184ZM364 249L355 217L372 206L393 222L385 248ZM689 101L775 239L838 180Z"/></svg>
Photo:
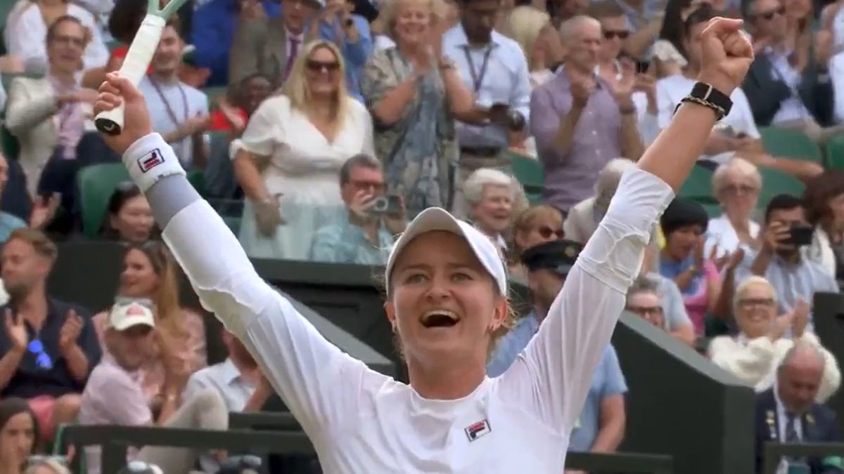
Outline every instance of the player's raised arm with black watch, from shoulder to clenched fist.
<svg viewBox="0 0 844 474"><path fill-rule="evenodd" d="M710 21L701 38L701 82L638 168L625 173L524 358L503 376L506 391L518 403L533 403L551 427L574 426L624 310L627 288L640 271L653 224L690 174L712 126L729 110L730 93L747 73L753 50L740 28L741 20Z"/></svg>

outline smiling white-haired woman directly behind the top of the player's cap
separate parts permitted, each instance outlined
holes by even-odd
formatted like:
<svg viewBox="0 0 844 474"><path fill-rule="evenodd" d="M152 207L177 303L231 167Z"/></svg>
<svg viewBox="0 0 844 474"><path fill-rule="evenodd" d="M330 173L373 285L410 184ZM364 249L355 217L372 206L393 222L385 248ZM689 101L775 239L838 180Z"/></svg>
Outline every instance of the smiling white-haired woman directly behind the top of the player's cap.
<svg viewBox="0 0 844 474"><path fill-rule="evenodd" d="M468 204L468 220L490 238L506 256L506 231L510 228L516 202L516 180L491 168L475 170L463 183L463 196Z"/></svg>

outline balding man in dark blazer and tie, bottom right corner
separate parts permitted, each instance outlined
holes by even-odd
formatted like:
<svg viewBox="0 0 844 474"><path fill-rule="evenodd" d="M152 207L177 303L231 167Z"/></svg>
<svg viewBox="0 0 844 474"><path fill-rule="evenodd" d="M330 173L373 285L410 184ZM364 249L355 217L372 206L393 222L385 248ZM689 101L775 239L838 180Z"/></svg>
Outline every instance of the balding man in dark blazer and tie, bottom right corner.
<svg viewBox="0 0 844 474"><path fill-rule="evenodd" d="M815 403L824 372L824 356L817 347L795 342L776 369L776 384L756 396L756 473L762 471L766 442L838 442L836 414ZM789 470L792 467L794 470ZM777 474L841 474L837 456L782 458Z"/></svg>

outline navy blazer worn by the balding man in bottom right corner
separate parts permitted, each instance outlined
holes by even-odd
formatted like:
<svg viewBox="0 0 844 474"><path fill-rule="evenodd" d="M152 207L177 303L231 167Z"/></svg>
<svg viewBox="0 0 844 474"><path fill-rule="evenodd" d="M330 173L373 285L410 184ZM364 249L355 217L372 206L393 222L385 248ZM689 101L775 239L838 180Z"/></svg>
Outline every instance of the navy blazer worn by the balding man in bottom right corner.
<svg viewBox="0 0 844 474"><path fill-rule="evenodd" d="M809 412L800 418L803 428L803 439L807 442L839 442L838 422L836 413L823 405L815 403ZM779 439L779 420L776 417L776 400L774 390L768 389L756 396L756 474L761 474L762 461L765 455L763 447L766 442L777 442ZM835 463L825 463L823 458L809 458L811 474L841 474L841 468Z"/></svg>

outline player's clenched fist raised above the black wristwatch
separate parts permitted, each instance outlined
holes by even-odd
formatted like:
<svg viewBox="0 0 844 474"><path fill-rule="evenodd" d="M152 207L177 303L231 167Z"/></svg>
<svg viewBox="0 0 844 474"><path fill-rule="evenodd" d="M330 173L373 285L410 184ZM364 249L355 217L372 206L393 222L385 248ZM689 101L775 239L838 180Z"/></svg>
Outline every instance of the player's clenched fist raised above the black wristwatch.
<svg viewBox="0 0 844 474"><path fill-rule="evenodd" d="M729 95L743 81L753 62L753 46L741 29L742 20L714 18L701 33L699 80Z"/></svg>

